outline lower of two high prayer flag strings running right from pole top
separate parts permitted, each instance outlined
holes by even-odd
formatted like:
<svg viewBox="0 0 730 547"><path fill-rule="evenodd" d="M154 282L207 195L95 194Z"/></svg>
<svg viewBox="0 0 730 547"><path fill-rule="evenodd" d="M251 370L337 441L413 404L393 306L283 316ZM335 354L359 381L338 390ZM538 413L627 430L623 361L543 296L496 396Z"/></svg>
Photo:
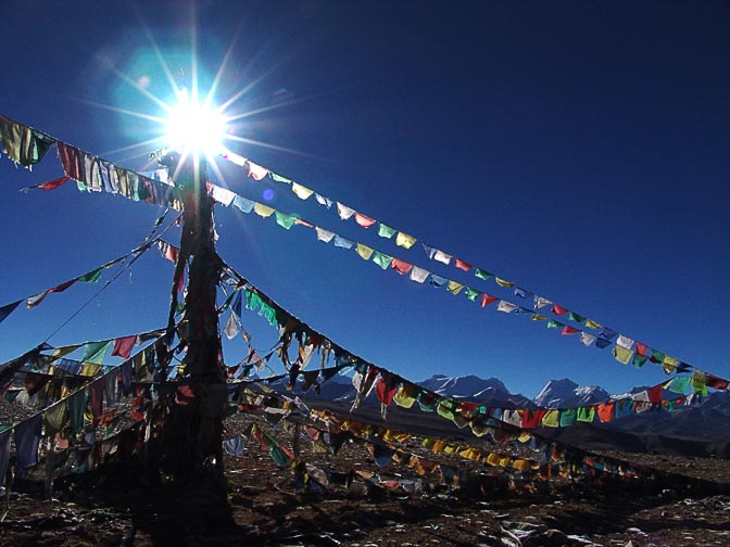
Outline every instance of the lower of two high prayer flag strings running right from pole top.
<svg viewBox="0 0 730 547"><path fill-rule="evenodd" d="M243 198L242 195L237 194L236 192L232 192L226 188L222 188L209 182L209 194L214 201L225 206L232 205L241 213L254 213L262 218L273 217L276 219L277 225L285 228L286 230L289 230L292 226L295 225L314 229L317 241L322 241L327 244L331 243L333 246L339 249L354 250L362 259L375 263L382 270L394 270L401 276L408 275L408 279L416 283L428 284L436 289L444 288L449 293L455 296L464 294L469 302L476 303L481 307L487 307L490 304L496 303L495 308L498 311L504 314L521 315L532 321L544 321L548 329L555 329L556 332L561 333L561 335L577 335L581 344L586 347L595 345L595 347L603 349L608 346L613 346L612 355L617 361L624 365L632 364L634 367L641 368L649 361L660 366L667 374L671 374L674 372L682 373L694 371L697 374L704 373L707 379L706 381L708 382L708 386L710 387L725 390L728 386L728 381L722 378L705 372L688 362L680 361L679 359L668 354L649 347L646 344L637 342L624 334L619 334L618 332L608 329L607 327L602 327L594 321L579 317L574 311L562 308L556 304L552 304L542 297L536 297L534 308L520 306L514 302L499 298L498 296L480 291L473 287L433 274L399 257L387 255L386 253L372 246L343 238L332 231L315 226L314 224L304 220L297 215L281 213L268 205L264 205L253 200ZM553 309L553 311L557 315L566 315L570 320L582 320L589 328L600 329L600 332L589 332L587 330L578 329L566 322L561 322L556 319L552 319L545 315L542 315L541 309L551 304L551 309Z"/></svg>

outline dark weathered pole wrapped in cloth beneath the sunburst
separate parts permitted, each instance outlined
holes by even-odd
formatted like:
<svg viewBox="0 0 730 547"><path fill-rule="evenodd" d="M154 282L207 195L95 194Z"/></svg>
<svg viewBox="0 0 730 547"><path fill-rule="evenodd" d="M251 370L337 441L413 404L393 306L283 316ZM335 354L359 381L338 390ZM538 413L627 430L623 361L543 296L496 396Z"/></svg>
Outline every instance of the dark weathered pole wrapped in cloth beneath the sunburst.
<svg viewBox="0 0 730 547"><path fill-rule="evenodd" d="M226 374L221 361L216 309L221 266L215 251L213 200L207 195L204 158L166 152L161 163L167 166L184 204L174 283L181 279L186 264L188 283L185 313L178 328L187 352L178 374L179 383L167 395L160 463L174 482L190 482L210 471L223 473Z"/></svg>

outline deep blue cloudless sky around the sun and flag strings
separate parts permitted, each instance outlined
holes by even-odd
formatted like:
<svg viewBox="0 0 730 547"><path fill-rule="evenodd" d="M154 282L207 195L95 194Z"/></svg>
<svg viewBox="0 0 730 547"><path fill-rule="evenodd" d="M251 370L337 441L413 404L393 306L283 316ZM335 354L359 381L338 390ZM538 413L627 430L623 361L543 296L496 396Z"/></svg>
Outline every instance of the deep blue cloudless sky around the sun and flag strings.
<svg viewBox="0 0 730 547"><path fill-rule="evenodd" d="M700 368L730 377L730 7L727 2L201 2L201 66L226 50L219 99L249 112L243 156ZM148 36L189 74L178 2L2 3L0 113L146 169L159 114L117 73L169 100ZM238 34L237 34L238 31ZM206 79L204 75L202 80ZM291 101L291 103L289 103ZM517 302L341 221L282 185L223 166L235 191L445 277ZM18 189L61 176L0 163L0 305L137 245L155 207L113 195ZM495 376L533 396L569 377L621 392L660 369L616 362L544 323L480 309L317 242L218 207L226 260L366 359L420 380ZM178 233L171 233L176 240ZM51 343L160 327L172 267L150 254ZM109 279L106 275L104 279ZM0 326L0 360L42 341L97 288L51 295ZM225 318L224 318L225 319ZM254 315L262 349L275 332ZM240 358L242 347L227 349Z"/></svg>

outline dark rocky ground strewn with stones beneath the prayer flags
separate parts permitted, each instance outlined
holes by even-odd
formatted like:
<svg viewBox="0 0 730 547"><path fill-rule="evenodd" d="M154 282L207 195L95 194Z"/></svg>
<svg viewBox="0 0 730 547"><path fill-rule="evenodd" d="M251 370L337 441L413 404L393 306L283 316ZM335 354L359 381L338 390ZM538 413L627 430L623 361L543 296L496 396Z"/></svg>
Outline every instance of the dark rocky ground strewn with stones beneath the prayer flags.
<svg viewBox="0 0 730 547"><path fill-rule="evenodd" d="M229 420L228 434L242 431L250 420ZM280 429L277 435L291 442ZM411 444L417 446L417 440ZM279 469L249 442L242 455L226 456L223 495L212 494L207 485L150 488L129 468L115 467L56 480L50 500L40 484L29 482L8 498L0 545L730 545L730 461L613 455L683 482L647 487L556 481L533 494L469 496L446 488L404 495L355 481L349 488L301 494L291 469ZM302 458L363 475L416 478L402 466L378 468L357 444L332 457L302 443ZM470 465L464 461L458 465ZM450 462L456 463L453 457Z"/></svg>

